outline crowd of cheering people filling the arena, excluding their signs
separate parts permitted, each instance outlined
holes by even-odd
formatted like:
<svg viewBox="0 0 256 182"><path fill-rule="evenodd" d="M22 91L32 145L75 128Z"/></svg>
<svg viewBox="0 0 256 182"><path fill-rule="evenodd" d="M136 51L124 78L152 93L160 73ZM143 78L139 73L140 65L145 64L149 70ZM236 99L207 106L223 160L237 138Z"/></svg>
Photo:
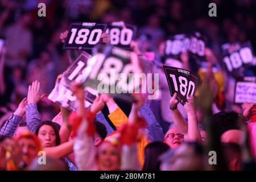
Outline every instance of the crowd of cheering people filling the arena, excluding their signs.
<svg viewBox="0 0 256 182"><path fill-rule="evenodd" d="M214 18L208 1L43 2L46 17L37 16L39 1L0 1L1 170L256 169L256 104L234 103L236 77L221 64L223 43L250 40L255 49L254 1L214 1ZM159 97L133 94L129 104L100 94L85 107L84 88L73 83L76 111L49 101L61 73L78 56L62 48L69 25L77 21L137 26L131 50L143 59L155 53L151 72L159 74ZM207 36L204 67L195 69L187 52L176 60L163 56L164 40L194 31ZM108 44L109 35L102 40ZM171 97L163 65L200 77L184 106L177 93ZM255 77L255 65L241 75Z"/></svg>

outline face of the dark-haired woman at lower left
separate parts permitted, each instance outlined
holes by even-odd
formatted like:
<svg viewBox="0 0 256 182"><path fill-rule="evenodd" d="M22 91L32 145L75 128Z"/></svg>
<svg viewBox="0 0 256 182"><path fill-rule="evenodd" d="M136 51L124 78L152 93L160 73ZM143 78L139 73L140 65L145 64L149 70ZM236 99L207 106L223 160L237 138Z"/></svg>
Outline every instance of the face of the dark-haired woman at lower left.
<svg viewBox="0 0 256 182"><path fill-rule="evenodd" d="M43 125L38 131L38 138L40 139L43 147L56 146L56 135L53 128L49 125Z"/></svg>

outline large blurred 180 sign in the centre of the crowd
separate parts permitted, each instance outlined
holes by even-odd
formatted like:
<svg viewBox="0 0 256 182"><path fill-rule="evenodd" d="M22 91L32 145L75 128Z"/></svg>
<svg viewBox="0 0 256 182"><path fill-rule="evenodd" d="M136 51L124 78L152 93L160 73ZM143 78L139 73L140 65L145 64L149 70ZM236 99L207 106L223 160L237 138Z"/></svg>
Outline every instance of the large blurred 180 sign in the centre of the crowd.
<svg viewBox="0 0 256 182"><path fill-rule="evenodd" d="M142 73L138 56L125 49L102 46L88 60L86 69L85 72L89 75L84 81L85 88L89 86L100 93L109 93L123 99L140 85L139 82L133 81L134 73ZM130 100L129 97L127 99Z"/></svg>

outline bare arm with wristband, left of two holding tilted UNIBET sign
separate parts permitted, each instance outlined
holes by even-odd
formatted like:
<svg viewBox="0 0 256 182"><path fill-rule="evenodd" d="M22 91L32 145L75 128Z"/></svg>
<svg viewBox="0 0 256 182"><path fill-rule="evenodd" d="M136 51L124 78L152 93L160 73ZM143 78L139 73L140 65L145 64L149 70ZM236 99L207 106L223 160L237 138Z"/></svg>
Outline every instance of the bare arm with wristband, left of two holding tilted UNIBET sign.
<svg viewBox="0 0 256 182"><path fill-rule="evenodd" d="M182 134L188 133L188 123L185 121L180 111L177 109L179 101L176 100L177 93L171 98L169 104L172 113L172 118L174 119L174 125L179 129Z"/></svg>

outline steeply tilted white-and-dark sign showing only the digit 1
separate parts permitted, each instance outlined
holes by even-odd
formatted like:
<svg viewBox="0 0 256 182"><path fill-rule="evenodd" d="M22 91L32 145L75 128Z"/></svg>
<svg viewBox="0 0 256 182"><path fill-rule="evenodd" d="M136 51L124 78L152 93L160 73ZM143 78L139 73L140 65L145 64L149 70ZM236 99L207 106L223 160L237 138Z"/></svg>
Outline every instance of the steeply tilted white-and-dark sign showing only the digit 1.
<svg viewBox="0 0 256 182"><path fill-rule="evenodd" d="M73 82L81 82L84 79L83 72L87 66L87 61L91 56L82 52L79 57L67 68L63 73L60 82L55 85L55 88L49 94L49 100L63 106L69 110L77 109L76 97L73 96L71 86ZM94 99L97 93L93 90L85 90L85 106L88 107Z"/></svg>

